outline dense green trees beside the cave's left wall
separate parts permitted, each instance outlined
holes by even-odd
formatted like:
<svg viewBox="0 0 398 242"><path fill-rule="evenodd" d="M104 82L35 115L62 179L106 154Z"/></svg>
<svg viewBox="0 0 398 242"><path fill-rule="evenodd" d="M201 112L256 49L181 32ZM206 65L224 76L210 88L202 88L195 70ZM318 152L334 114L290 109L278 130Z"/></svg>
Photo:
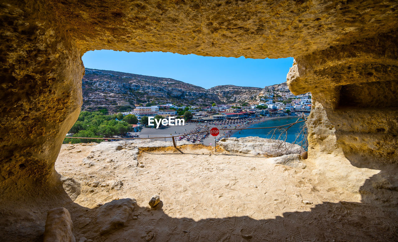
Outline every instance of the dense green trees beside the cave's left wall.
<svg viewBox="0 0 398 242"><path fill-rule="evenodd" d="M121 113L120 115L123 118ZM82 111L69 133L74 134L72 137L87 138L105 138L113 137L114 135L124 135L129 130L129 124L125 121L116 120L120 115L119 113L114 115L105 115L101 111ZM99 139L64 139L64 142L70 142L72 144L101 141L102 140Z"/></svg>

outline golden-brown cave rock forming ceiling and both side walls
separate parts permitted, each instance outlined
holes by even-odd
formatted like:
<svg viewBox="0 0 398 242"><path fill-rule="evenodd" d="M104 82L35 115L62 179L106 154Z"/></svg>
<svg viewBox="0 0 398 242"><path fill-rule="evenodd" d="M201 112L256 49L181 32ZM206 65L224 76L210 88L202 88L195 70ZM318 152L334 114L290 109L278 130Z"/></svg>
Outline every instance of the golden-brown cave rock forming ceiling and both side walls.
<svg viewBox="0 0 398 242"><path fill-rule="evenodd" d="M389 107L382 96L372 107L363 98L339 102L354 99L364 87L347 85L362 82L388 81L365 85L372 96L396 94L396 9L394 0L2 1L0 202L60 185L54 162L82 105L81 57L95 49L296 57L289 86L317 101L310 155L337 145L359 163L396 162L394 99Z"/></svg>

